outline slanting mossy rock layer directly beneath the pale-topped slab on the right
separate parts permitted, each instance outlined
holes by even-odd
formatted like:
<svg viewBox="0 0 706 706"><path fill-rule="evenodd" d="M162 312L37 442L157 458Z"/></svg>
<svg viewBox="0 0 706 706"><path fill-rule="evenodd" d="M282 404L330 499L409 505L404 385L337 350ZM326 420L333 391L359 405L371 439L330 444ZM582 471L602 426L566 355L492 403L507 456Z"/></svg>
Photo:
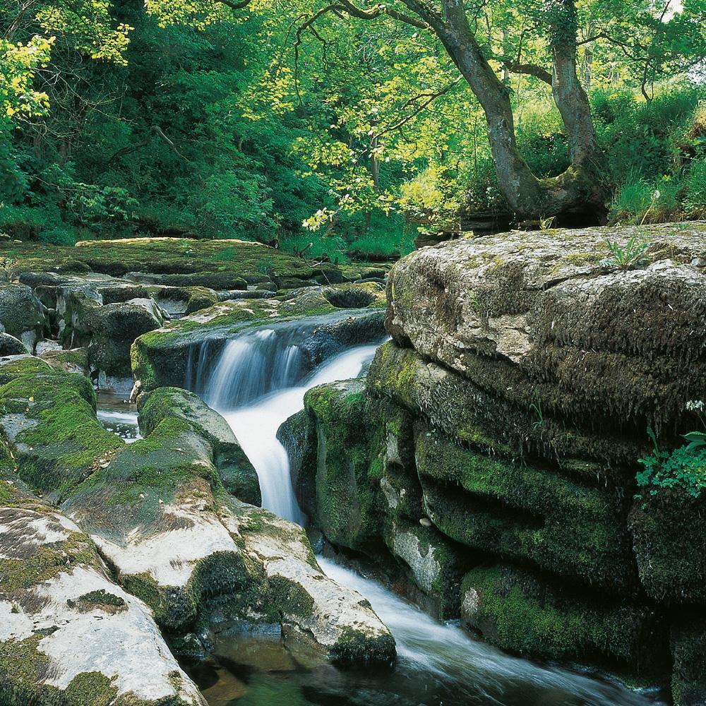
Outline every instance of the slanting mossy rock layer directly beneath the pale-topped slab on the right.
<svg viewBox="0 0 706 706"><path fill-rule="evenodd" d="M487 374L497 377L492 369ZM546 414L536 395L532 405L513 398L517 381L507 382L503 399L393 342L378 349L367 376L371 395L393 400L462 445L508 460L544 457L566 474L592 483L634 486L637 459L646 443L571 426Z"/></svg>

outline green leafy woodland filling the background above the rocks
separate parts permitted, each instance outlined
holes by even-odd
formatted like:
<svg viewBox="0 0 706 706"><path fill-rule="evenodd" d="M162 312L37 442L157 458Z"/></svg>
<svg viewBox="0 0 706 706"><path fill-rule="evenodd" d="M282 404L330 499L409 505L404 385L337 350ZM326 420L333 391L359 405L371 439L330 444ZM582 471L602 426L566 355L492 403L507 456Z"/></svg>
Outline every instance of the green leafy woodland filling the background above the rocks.
<svg viewBox="0 0 706 706"><path fill-rule="evenodd" d="M0 229L28 237L394 251L460 208L601 219L702 157L703 0L4 0L0 24Z"/></svg>

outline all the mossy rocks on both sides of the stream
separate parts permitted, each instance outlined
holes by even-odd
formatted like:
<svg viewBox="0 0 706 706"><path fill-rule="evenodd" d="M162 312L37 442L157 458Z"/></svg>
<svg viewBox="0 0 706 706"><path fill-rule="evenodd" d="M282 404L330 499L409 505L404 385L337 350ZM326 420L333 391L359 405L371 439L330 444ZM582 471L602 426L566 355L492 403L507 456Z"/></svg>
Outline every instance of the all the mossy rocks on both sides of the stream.
<svg viewBox="0 0 706 706"><path fill-rule="evenodd" d="M0 702L201 704L173 655L245 626L393 662L187 389L228 342L301 321L302 376L392 337L278 434L330 548L510 653L706 700L706 481L680 451L706 398L706 230L644 231L627 262L629 229L450 241L395 264L386 295L383 270L240 241L5 245ZM132 397L130 443L96 387Z"/></svg>

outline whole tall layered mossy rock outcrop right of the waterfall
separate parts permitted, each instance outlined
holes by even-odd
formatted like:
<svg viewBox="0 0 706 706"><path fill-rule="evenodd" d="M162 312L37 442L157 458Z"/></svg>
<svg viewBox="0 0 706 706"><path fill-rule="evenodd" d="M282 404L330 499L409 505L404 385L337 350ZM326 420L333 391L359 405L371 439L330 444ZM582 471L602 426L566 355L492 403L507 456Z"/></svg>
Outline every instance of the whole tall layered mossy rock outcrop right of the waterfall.
<svg viewBox="0 0 706 706"><path fill-rule="evenodd" d="M366 382L310 390L280 438L330 542L439 613L695 705L706 633L677 616L706 609L706 458L681 434L706 397L706 228L643 231L412 253Z"/></svg>

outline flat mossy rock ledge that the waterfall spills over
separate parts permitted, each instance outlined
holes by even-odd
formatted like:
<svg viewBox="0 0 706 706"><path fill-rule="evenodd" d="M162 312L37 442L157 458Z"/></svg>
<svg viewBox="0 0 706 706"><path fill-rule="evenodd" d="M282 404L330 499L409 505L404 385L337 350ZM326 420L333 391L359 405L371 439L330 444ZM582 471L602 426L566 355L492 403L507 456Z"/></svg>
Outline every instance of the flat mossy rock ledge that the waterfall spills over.
<svg viewBox="0 0 706 706"><path fill-rule="evenodd" d="M186 378L198 369L204 346L214 359L227 340L246 330L304 317L318 317L311 320L312 335L303 345L311 362L318 363L343 345L380 340L383 307L383 290L374 283L306 287L275 299L222 301L140 336L131 352L133 376L143 390L190 386L193 381Z"/></svg>

